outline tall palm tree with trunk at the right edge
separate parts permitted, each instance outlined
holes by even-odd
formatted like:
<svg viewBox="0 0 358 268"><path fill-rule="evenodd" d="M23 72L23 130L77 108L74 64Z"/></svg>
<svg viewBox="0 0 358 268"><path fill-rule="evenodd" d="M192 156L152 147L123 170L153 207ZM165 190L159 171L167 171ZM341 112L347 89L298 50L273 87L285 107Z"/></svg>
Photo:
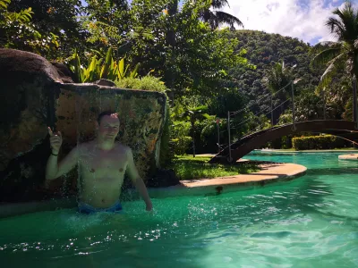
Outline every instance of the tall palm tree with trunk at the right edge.
<svg viewBox="0 0 358 268"><path fill-rule="evenodd" d="M337 8L335 17L326 21L336 42L321 42L312 48L317 53L311 61L311 66L326 66L320 78L319 87L327 87L338 70L345 72L353 79L353 120L357 121L356 80L358 76L358 10L351 2L345 2L344 8Z"/></svg>

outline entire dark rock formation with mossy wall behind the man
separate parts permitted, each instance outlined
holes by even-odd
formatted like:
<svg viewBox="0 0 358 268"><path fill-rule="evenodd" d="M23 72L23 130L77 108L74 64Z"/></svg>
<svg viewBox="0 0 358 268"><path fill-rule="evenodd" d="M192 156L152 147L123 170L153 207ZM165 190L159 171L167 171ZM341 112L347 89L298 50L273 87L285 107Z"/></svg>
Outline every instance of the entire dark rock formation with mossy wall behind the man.
<svg viewBox="0 0 358 268"><path fill-rule="evenodd" d="M55 65L55 66L54 66ZM61 75L59 74L59 71ZM158 168L166 96L95 84L72 84L71 72L38 54L0 49L0 202L75 194L77 172L44 189L50 154L47 126L61 130L63 157L77 142L95 138L98 113L119 113L118 139L132 147L143 179Z"/></svg>

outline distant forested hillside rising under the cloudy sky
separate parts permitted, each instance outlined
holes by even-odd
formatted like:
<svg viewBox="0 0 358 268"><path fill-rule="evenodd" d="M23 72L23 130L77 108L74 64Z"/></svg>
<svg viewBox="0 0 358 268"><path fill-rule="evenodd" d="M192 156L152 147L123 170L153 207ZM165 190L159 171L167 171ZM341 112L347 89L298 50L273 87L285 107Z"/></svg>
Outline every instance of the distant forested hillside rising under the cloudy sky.
<svg viewBox="0 0 358 268"><path fill-rule="evenodd" d="M268 34L261 31L236 30L232 38L239 39L239 48L247 50L246 57L257 66L256 70L244 70L243 68L233 68L230 74L234 76L236 87L243 90L244 96L249 99L251 111L269 111L270 98L264 98L260 104L256 101L261 96L268 94L268 87L264 83L265 71L273 63L284 63L287 66L294 66L294 77L302 79L295 87L295 93L307 90L314 92L315 87L320 81L320 75L312 72L309 68L311 56L309 55L309 44L297 38L282 37L278 34ZM287 88L290 89L290 88ZM273 98L273 106L276 107L286 100L285 94L277 94ZM288 107L288 102L285 108ZM280 113L285 109L280 107L275 113L277 122Z"/></svg>

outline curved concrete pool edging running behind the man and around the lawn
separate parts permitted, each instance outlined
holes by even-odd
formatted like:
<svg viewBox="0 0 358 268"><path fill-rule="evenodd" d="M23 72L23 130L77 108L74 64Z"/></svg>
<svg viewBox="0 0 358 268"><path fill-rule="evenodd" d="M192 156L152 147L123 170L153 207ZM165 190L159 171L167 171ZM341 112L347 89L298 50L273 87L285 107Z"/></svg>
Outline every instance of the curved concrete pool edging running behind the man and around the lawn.
<svg viewBox="0 0 358 268"><path fill-rule="evenodd" d="M244 160L248 161L248 160ZM293 180L303 176L307 168L295 163L268 163L260 161L260 171L250 174L219 177L213 179L182 180L181 184L167 188L149 188L149 196L153 198L216 195L217 186L223 188L222 192L232 192L239 189L263 187L268 183ZM135 189L128 190L127 194L138 198ZM30 214L41 211L53 211L61 208L75 207L75 198L62 198L45 201L3 203L0 204L0 218Z"/></svg>

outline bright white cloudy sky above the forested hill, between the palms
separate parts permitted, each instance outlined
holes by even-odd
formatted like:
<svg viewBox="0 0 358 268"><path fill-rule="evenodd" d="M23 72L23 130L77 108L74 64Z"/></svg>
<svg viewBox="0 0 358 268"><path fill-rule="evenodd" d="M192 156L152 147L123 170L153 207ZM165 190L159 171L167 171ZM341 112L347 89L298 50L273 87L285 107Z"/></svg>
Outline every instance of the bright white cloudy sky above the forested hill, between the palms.
<svg viewBox="0 0 358 268"><path fill-rule="evenodd" d="M355 0L356 2L358 0ZM332 11L343 6L342 0L228 0L230 7L223 11L243 21L244 29L303 39L311 45L334 40L325 22Z"/></svg>

